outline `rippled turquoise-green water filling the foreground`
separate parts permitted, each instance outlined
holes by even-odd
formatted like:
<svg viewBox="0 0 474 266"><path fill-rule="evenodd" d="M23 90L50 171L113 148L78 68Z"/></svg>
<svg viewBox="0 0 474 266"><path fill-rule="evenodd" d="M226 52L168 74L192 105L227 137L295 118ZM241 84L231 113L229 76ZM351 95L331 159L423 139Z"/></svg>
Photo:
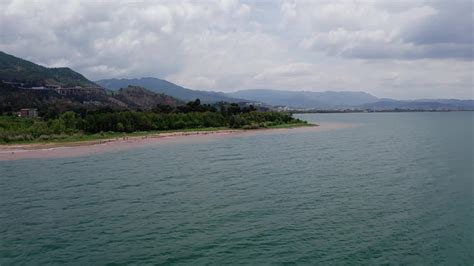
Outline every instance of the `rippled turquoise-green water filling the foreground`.
<svg viewBox="0 0 474 266"><path fill-rule="evenodd" d="M0 162L0 264L472 265L474 113Z"/></svg>

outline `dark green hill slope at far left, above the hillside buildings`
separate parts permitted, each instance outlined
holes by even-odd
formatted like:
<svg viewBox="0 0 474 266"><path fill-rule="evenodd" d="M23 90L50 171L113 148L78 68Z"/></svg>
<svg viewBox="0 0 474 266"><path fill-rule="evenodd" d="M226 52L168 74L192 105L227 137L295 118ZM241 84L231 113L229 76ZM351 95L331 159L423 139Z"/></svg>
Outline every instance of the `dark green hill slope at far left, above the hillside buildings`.
<svg viewBox="0 0 474 266"><path fill-rule="evenodd" d="M1 51L0 80L21 82L29 86L52 84L64 87L98 87L97 84L70 68L47 68Z"/></svg>

